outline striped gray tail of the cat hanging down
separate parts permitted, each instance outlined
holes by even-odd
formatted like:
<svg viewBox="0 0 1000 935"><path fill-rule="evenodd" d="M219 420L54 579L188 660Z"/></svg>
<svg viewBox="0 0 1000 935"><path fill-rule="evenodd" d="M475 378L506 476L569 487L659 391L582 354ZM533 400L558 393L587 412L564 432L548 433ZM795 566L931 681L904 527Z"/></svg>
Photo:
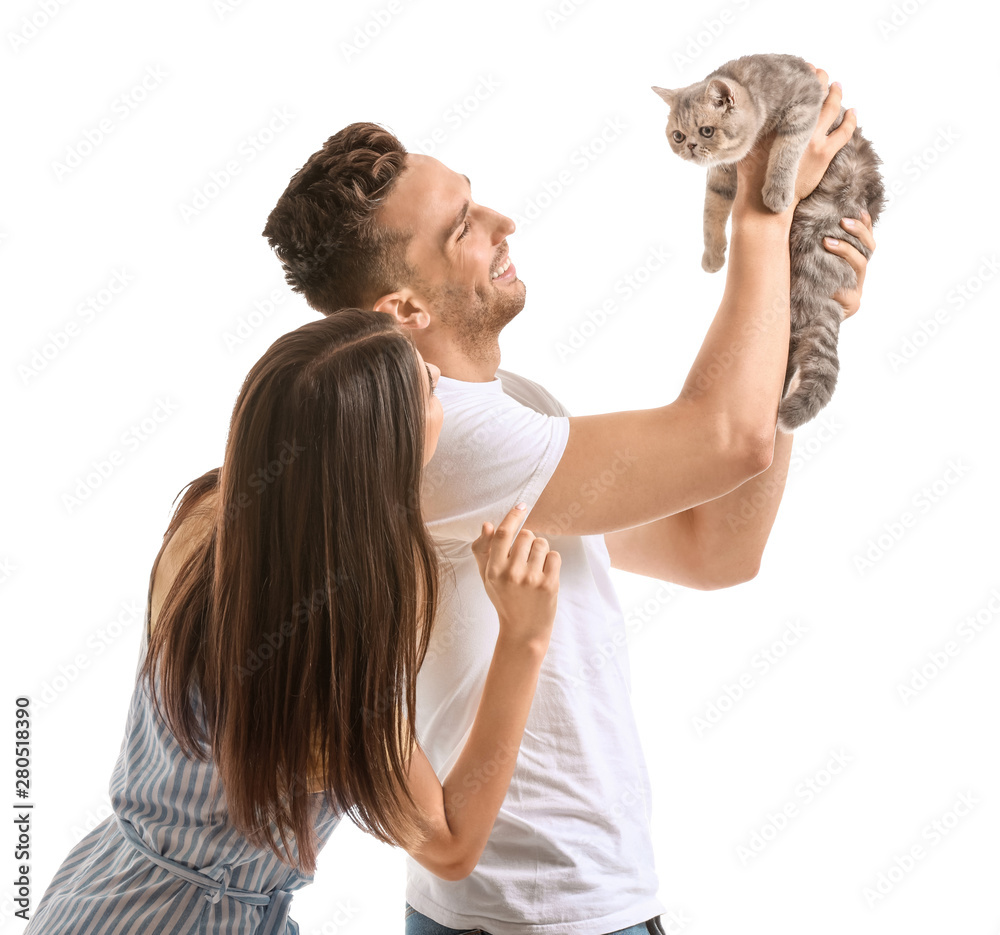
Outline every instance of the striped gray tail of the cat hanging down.
<svg viewBox="0 0 1000 935"><path fill-rule="evenodd" d="M841 307L829 298L802 298L829 308L812 310L802 329L792 333L785 392L778 406L778 428L783 432L794 432L819 415L833 396L840 372L837 337Z"/></svg>

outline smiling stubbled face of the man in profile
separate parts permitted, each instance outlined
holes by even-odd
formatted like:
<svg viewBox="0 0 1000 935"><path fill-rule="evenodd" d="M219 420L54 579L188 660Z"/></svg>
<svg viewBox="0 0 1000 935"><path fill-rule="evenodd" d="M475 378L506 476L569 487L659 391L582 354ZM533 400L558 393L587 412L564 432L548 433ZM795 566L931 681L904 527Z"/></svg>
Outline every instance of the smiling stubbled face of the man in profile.
<svg viewBox="0 0 1000 935"><path fill-rule="evenodd" d="M495 347L500 330L524 308L524 283L508 265L514 222L477 205L464 175L415 153L407 154L381 220L413 231L406 259L417 279L410 291L436 325L469 356Z"/></svg>

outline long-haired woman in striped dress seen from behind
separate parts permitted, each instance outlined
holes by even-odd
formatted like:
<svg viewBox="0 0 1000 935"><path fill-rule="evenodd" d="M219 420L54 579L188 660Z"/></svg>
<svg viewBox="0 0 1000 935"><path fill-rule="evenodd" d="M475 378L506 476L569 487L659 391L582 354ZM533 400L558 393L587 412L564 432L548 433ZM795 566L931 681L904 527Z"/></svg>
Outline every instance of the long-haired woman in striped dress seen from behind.
<svg viewBox="0 0 1000 935"><path fill-rule="evenodd" d="M441 431L437 376L388 316L356 309L284 335L250 371L223 466L189 485L153 566L114 815L26 932L294 932L291 892L344 814L445 879L472 871L513 772L560 558L515 536L523 505L483 524L472 547L499 636L440 783L414 728L437 595L418 497Z"/></svg>

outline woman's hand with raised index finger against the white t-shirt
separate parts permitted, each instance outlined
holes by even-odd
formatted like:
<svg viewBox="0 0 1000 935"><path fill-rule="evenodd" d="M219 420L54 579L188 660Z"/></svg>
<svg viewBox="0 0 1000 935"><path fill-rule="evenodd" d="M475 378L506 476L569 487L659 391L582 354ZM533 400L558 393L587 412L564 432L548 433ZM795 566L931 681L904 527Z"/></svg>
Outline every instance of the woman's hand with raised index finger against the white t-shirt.
<svg viewBox="0 0 1000 935"><path fill-rule="evenodd" d="M528 529L515 537L526 515L514 507L496 529L483 523L472 552L500 618L500 638L544 648L555 619L562 559Z"/></svg>

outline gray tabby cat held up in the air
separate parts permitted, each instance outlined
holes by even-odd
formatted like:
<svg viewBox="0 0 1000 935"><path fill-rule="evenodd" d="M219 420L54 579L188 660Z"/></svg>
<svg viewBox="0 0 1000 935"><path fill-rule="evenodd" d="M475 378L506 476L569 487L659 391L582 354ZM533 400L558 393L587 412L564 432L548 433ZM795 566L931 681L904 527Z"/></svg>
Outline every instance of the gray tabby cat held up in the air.
<svg viewBox="0 0 1000 935"><path fill-rule="evenodd" d="M667 139L682 159L708 166L705 253L710 273L722 268L726 221L736 197L736 165L758 138L777 131L762 192L764 204L783 211L792 203L799 160L816 127L825 97L813 70L794 55L745 55L717 68L704 81L668 91L653 90L670 105ZM844 108L831 130L840 126ZM840 226L840 219L882 211L882 160L860 129L833 158L816 189L799 202L791 228L791 339L778 425L791 432L813 419L829 401L840 363L837 337L843 309L830 296L857 285L854 270L823 246L823 237L871 251Z"/></svg>

